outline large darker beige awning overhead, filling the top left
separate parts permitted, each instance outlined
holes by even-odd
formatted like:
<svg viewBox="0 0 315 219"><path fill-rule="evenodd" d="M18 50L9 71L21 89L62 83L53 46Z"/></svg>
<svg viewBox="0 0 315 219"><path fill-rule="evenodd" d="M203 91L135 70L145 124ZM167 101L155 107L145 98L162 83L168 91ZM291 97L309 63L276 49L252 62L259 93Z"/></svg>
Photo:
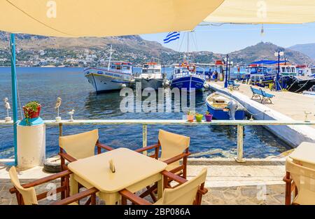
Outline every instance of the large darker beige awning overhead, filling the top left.
<svg viewBox="0 0 315 219"><path fill-rule="evenodd" d="M191 30L223 0L0 0L0 30L119 36Z"/></svg>

